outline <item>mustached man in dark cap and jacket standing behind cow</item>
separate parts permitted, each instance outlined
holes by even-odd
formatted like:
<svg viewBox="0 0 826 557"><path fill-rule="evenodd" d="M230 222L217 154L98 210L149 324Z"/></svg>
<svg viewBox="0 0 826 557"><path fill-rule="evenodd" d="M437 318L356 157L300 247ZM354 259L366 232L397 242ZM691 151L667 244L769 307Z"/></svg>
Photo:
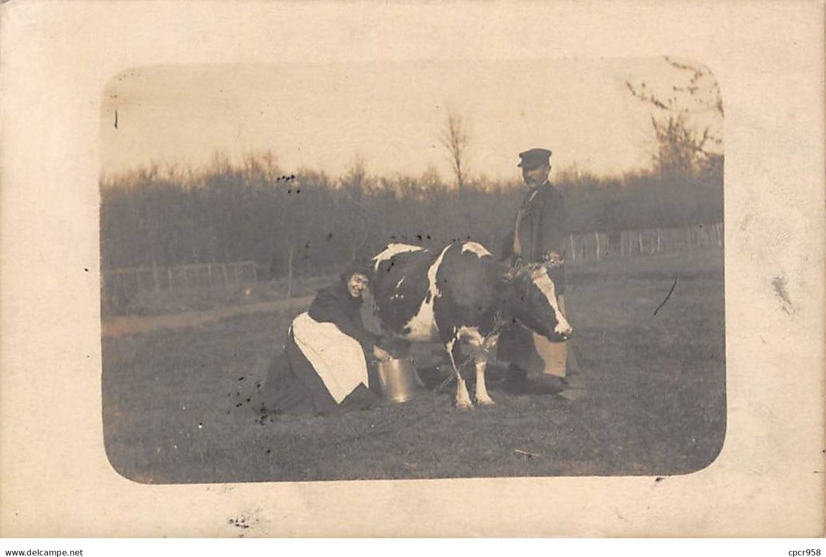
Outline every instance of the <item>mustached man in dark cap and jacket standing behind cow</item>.
<svg viewBox="0 0 826 557"><path fill-rule="evenodd" d="M511 263L555 262L548 273L556 288L559 308L565 312L564 242L567 237L563 194L548 182L551 151L531 149L520 153L522 178L529 186L516 212L512 242L505 255ZM498 357L510 364L505 389L511 393L558 393L564 398L584 394L582 375L566 342L551 342L519 324L502 331Z"/></svg>

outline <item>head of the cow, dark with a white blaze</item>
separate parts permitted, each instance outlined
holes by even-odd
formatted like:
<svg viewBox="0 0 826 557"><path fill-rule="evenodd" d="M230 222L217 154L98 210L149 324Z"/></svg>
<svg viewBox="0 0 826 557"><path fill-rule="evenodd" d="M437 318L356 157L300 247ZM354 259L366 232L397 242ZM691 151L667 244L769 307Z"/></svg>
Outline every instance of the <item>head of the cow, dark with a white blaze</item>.
<svg viewBox="0 0 826 557"><path fill-rule="evenodd" d="M548 269L563 264L562 259L543 263L518 264L506 271L507 304L511 315L549 340L567 340L572 328L560 311L553 279Z"/></svg>

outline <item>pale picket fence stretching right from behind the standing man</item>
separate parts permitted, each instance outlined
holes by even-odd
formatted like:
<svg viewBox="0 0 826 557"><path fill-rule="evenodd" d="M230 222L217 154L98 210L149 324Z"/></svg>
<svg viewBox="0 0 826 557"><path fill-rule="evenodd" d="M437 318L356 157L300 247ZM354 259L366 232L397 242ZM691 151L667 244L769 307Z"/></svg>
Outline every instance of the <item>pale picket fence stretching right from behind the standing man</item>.
<svg viewBox="0 0 826 557"><path fill-rule="evenodd" d="M566 259L602 259L611 255L657 254L723 246L723 223L689 228L646 228L618 231L615 234L592 232L568 236Z"/></svg>

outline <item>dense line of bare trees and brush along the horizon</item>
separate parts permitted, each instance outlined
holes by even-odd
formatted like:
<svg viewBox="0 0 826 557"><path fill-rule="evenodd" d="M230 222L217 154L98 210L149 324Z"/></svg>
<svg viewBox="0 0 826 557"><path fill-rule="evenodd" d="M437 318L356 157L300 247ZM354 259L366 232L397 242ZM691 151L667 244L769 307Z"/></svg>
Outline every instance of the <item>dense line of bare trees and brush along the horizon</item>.
<svg viewBox="0 0 826 557"><path fill-rule="evenodd" d="M551 178L565 194L572 234L723 218L722 155L618 176L568 169ZM500 252L525 186L467 176L462 185L434 169L373 176L360 159L338 177L287 171L270 154L239 164L216 155L202 169L153 164L101 180L102 267L250 260L292 277L374 255L394 241L470 239Z"/></svg>

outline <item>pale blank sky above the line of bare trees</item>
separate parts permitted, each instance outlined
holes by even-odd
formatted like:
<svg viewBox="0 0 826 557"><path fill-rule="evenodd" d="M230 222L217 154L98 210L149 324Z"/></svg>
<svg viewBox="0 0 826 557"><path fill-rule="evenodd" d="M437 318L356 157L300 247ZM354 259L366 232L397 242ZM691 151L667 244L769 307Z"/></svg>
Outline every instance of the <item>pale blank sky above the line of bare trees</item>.
<svg viewBox="0 0 826 557"><path fill-rule="evenodd" d="M469 125L472 175L520 179L517 154L531 147L553 150L555 169L613 174L648 166L654 147L625 80L667 93L675 71L653 58L142 67L103 93L102 169L269 150L285 172L337 176L358 155L369 174L433 165L450 179L438 136L453 107Z"/></svg>

